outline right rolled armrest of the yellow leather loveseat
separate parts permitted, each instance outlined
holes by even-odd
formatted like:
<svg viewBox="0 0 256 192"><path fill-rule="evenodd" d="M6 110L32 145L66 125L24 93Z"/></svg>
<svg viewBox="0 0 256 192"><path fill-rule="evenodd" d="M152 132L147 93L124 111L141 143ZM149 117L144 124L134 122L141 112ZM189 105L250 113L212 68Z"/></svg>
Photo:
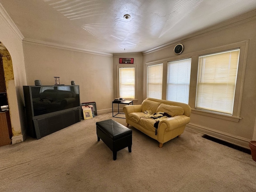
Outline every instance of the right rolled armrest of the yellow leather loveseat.
<svg viewBox="0 0 256 192"><path fill-rule="evenodd" d="M171 131L178 127L185 126L190 122L190 117L186 115L178 115L166 118L159 122L158 131Z"/></svg>

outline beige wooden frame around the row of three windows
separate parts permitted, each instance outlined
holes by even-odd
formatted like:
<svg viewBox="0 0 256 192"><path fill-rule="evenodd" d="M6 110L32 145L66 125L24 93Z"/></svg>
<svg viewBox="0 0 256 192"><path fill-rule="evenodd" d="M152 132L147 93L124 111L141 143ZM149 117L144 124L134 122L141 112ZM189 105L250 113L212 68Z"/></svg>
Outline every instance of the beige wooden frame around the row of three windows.
<svg viewBox="0 0 256 192"><path fill-rule="evenodd" d="M161 60L154 60L151 62L146 62L146 67L150 64L159 64L163 63L163 71L167 70L167 62L172 60L181 60L185 58L192 58L191 61L191 72L190 72L190 93L189 93L189 101L188 104L191 107L192 114L199 114L204 116L210 116L214 118L220 118L224 120L238 122L240 119L240 111L242 106L242 94L243 94L243 86L244 86L244 77L245 77L245 70L246 70L246 60L247 60L247 53L248 53L248 45L249 40L243 40L240 42L234 42L230 44L225 44L218 47L209 48L206 50L200 50L191 52L188 54L180 54L178 56L164 58ZM196 83L197 83L197 74L198 74L198 58L199 56L205 54L211 54L216 52L222 52L225 50L232 50L240 48L240 57L238 61L238 73L237 73L237 80L236 80L236 89L235 89L235 99L234 99L234 109L233 109L233 116L228 116L224 114L216 114L214 112L208 112L203 110L195 109L195 102L196 102ZM144 68L144 97L146 98L146 85L147 85L147 68ZM166 77L167 73L163 73L163 88L162 88L162 98L166 98Z"/></svg>

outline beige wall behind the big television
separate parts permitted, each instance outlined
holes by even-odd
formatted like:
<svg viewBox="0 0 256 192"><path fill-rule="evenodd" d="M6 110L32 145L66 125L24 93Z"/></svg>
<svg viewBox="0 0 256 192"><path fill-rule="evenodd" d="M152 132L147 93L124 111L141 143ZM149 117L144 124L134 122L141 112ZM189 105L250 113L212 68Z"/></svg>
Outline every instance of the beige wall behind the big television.
<svg viewBox="0 0 256 192"><path fill-rule="evenodd" d="M112 110L112 56L30 42L24 42L23 48L28 85L34 85L34 80L54 85L54 76L60 77L60 84L70 85L74 80L80 86L81 103L96 102L97 111Z"/></svg>

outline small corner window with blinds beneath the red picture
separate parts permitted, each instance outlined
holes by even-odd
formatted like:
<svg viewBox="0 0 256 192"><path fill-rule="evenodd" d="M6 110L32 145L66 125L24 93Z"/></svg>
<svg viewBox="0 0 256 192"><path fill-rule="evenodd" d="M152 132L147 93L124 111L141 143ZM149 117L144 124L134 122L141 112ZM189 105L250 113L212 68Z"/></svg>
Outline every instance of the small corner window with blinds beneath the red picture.
<svg viewBox="0 0 256 192"><path fill-rule="evenodd" d="M119 68L119 96L135 99L135 68Z"/></svg>

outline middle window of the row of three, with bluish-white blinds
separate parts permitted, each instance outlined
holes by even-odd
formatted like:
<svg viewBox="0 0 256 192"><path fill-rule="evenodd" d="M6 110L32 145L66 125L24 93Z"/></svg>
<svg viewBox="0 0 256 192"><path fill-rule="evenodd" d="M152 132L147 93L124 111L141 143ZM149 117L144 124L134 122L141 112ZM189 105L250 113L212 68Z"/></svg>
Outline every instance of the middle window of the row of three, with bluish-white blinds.
<svg viewBox="0 0 256 192"><path fill-rule="evenodd" d="M166 100L188 104L191 58L167 63Z"/></svg>

